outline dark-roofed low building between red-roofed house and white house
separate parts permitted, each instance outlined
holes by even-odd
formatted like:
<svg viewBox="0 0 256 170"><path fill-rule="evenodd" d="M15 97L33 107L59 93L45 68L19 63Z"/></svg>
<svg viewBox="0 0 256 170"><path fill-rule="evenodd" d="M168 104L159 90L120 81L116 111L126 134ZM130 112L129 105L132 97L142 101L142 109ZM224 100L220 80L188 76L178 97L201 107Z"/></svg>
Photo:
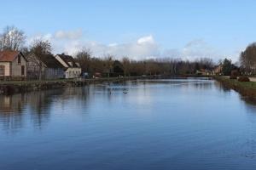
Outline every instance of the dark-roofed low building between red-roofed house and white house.
<svg viewBox="0 0 256 170"><path fill-rule="evenodd" d="M52 54L36 56L29 54L27 57L28 79L61 79L64 78L64 67Z"/></svg>

